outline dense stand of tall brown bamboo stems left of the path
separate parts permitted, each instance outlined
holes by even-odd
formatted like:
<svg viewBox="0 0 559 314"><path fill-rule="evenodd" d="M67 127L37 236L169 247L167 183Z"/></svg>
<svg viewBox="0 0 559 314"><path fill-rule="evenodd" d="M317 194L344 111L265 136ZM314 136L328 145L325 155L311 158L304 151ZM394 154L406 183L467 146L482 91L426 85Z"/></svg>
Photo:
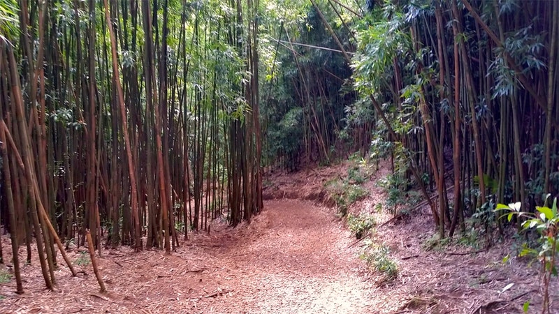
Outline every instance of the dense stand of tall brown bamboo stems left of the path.
<svg viewBox="0 0 559 314"><path fill-rule="evenodd" d="M99 254L101 239L169 253L262 209L258 0L0 6L0 214L18 292L20 245L31 262L36 243L52 288L55 245L64 256L87 230Z"/></svg>

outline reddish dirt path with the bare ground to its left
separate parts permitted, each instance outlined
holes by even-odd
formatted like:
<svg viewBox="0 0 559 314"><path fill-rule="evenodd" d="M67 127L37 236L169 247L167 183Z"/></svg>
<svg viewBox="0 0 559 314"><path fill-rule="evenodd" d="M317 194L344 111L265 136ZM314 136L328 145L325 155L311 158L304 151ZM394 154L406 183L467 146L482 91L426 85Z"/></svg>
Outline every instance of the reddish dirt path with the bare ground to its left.
<svg viewBox="0 0 559 314"><path fill-rule="evenodd" d="M107 295L96 293L90 264L78 278L61 265L55 292L43 290L38 263L24 267L27 293L0 284L0 313L375 313L364 265L331 209L271 200L249 225L212 227L170 256L106 251Z"/></svg>

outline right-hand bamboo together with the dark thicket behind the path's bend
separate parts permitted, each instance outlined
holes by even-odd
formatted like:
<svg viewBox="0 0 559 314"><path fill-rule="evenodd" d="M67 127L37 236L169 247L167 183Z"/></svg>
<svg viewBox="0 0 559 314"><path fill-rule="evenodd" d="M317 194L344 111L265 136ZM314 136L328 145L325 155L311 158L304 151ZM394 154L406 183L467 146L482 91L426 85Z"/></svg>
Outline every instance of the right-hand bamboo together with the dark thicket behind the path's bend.
<svg viewBox="0 0 559 314"><path fill-rule="evenodd" d="M289 168L351 149L389 157L395 204L416 188L440 237L468 225L491 244L504 230L498 202L533 209L559 193L558 10L558 1L305 3L300 22L271 32L268 153Z"/></svg>

